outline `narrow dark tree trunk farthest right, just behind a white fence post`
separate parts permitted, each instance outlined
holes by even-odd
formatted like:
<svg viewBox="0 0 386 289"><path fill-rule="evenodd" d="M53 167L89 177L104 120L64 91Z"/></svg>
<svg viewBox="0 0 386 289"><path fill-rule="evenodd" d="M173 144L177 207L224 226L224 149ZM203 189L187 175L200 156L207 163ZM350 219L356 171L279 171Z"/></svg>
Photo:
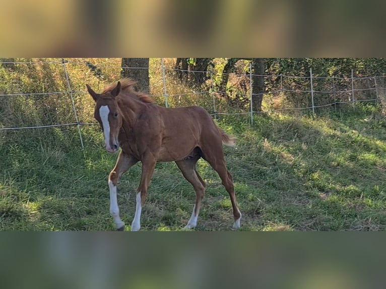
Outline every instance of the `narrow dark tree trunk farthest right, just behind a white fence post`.
<svg viewBox="0 0 386 289"><path fill-rule="evenodd" d="M253 58L252 67L254 71L252 83L252 109L253 111L262 111L264 86L264 58Z"/></svg>

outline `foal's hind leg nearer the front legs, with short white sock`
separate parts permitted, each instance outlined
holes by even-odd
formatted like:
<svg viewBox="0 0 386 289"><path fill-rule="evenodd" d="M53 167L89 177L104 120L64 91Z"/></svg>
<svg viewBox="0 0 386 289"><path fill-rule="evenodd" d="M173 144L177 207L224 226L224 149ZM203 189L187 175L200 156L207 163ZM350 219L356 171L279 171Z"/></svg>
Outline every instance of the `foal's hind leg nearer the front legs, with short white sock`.
<svg viewBox="0 0 386 289"><path fill-rule="evenodd" d="M193 186L196 191L196 203L191 212L191 216L184 229L194 229L197 226L197 220L200 213L201 202L205 194L205 182L196 171L196 163L198 158L187 159L175 162L181 170L185 179Z"/></svg>

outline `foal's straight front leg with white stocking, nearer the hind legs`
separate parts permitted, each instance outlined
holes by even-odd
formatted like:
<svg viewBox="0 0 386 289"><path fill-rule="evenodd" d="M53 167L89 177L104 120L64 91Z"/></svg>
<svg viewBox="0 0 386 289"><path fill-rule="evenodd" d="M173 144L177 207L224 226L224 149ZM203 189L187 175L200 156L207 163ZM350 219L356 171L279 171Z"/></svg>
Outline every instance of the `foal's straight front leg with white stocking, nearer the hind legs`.
<svg viewBox="0 0 386 289"><path fill-rule="evenodd" d="M157 160L153 155L146 156L142 161L141 182L136 195L136 214L132 223L132 231L139 231L141 229L141 212L142 206L145 203L150 180L153 176L154 168Z"/></svg>

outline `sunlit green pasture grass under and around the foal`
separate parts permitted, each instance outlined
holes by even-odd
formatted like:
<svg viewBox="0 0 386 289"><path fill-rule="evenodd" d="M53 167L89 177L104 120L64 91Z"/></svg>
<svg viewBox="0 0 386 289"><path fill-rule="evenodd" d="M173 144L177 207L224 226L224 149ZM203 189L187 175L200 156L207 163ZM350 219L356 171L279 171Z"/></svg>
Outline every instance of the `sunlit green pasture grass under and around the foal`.
<svg viewBox="0 0 386 289"><path fill-rule="evenodd" d="M241 116L218 121L238 137L225 148L241 231L384 230L386 228L386 123L369 119L376 108L307 115ZM0 230L114 230L107 176L117 155L102 148L102 134L76 128L7 132L0 139ZM200 160L207 182L197 230L232 226L229 197L218 175ZM141 165L118 184L126 230L135 212ZM195 193L174 163L157 164L142 213L142 230L186 225Z"/></svg>

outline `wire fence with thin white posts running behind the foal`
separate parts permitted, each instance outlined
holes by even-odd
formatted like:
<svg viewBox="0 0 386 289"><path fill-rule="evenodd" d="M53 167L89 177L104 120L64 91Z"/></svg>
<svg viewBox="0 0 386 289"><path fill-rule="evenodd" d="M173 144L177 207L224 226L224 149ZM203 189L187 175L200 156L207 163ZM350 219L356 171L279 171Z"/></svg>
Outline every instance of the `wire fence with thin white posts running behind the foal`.
<svg viewBox="0 0 386 289"><path fill-rule="evenodd" d="M161 58L162 70L162 93L152 94L153 97L163 98L166 107L170 107L171 98L178 98L177 105L183 105L181 99L187 95L206 96L208 101L206 103L206 109L208 109L212 116L217 118L218 115L249 115L250 123L253 124L253 115L259 114L261 111L253 110L253 99L255 97L262 97L267 100L266 103L271 103L271 106L266 105L264 112L278 112L287 110L310 110L315 115L315 109L321 107L336 106L340 104L351 104L352 109L355 110L355 103L357 102L368 102L378 101L378 92L381 91L381 95L386 88L381 87L384 84L383 76L377 77L354 77L354 71L351 71L349 77L315 77L312 73L312 68L307 71L309 76L287 76L287 75L255 75L252 74L251 63L249 62L249 71L243 75L238 76L238 81L243 85L243 91L237 91L235 95L243 100L243 107L236 111L221 110L219 100L224 96L229 96L230 92L219 91L214 85L214 79L216 73L214 71L192 71L169 68L164 63L164 58ZM71 107L73 114L73 121L69 123L51 123L47 125L35 125L35 126L10 126L0 127L0 130L19 130L19 129L33 129L33 128L47 128L47 127L59 127L59 126L77 126L77 130L80 137L82 149L84 148L84 142L82 138L82 125L94 125L94 122L81 121L79 118L77 107L75 103L75 95L87 94L86 91L74 90L71 85L69 72L67 66L69 63L73 65L85 65L84 62L69 61L61 59L60 61L3 61L0 62L2 65L15 65L15 64L36 64L45 63L47 65L61 65L63 73L63 82L66 83L66 89L54 92L41 92L41 93L5 93L0 94L1 97L14 97L14 96L44 96L44 95L64 95L68 96L69 108ZM87 64L86 64L87 65ZM95 65L94 65L95 66ZM103 64L101 64L103 66ZM148 69L148 67L117 67L119 69ZM90 69L97 70L98 67L92 67ZM189 74L206 74L209 76L210 85L208 89L203 91L189 91L185 93L168 94L168 81L167 77L170 74L175 74L177 71ZM305 72L305 71L303 71ZM235 74L228 74L228 77L234 76ZM267 85L267 91L264 93L253 93L252 85L254 77L263 77ZM236 77L237 78L237 77ZM236 81L237 82L237 81ZM365 82L365 85L363 85ZM379 86L379 84L381 86ZM283 94L287 94L287 98L292 98L296 105L290 107L283 107L285 102L281 103L281 107L275 106L277 99L282 100ZM326 97L326 95L328 97ZM375 95L375 97L374 97ZM211 99L209 101L209 98ZM175 106L177 106L175 105ZM210 107L211 106L211 107ZM249 107L248 107L249 106ZM0 125L3 125L0 123Z"/></svg>

